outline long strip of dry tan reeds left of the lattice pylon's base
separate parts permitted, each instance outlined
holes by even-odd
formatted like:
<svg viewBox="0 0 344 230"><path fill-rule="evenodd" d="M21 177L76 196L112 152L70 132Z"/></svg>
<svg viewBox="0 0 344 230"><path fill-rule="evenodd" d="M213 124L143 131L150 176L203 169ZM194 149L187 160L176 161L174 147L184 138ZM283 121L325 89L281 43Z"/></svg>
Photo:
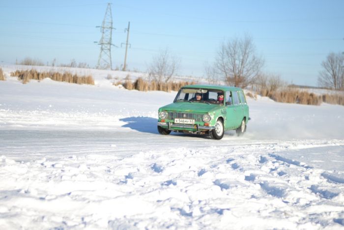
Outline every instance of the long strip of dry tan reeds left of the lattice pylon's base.
<svg viewBox="0 0 344 230"><path fill-rule="evenodd" d="M45 78L50 78L51 80L57 82L94 85L94 80L92 76L79 76L77 74L72 74L69 72L38 72L35 69L16 70L15 72L11 73L11 76L17 76L18 79L22 80L23 84L28 83L31 79L41 81Z"/></svg>

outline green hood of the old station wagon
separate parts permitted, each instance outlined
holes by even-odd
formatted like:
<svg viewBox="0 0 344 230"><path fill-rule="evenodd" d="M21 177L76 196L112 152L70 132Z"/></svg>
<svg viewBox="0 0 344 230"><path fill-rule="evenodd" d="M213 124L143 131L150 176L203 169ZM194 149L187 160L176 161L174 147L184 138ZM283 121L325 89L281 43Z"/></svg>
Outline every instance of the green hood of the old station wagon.
<svg viewBox="0 0 344 230"><path fill-rule="evenodd" d="M164 107L161 110L187 112L187 113L209 113L215 108L222 107L220 105L198 103L198 102L175 102Z"/></svg>

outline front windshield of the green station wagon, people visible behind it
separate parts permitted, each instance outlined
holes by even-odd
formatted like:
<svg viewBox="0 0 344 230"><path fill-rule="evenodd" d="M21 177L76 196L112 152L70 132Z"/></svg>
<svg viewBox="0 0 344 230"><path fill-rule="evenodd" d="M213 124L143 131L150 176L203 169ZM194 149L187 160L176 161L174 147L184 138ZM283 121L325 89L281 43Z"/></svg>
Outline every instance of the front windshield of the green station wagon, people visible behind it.
<svg viewBox="0 0 344 230"><path fill-rule="evenodd" d="M207 88L182 88L179 90L174 102L223 104L224 92Z"/></svg>

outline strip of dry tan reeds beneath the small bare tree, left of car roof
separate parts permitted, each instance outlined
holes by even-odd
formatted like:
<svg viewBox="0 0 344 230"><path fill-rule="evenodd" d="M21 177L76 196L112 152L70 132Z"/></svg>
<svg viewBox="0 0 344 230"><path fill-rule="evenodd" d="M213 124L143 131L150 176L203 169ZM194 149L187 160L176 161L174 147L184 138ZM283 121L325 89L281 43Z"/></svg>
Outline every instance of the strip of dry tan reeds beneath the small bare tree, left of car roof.
<svg viewBox="0 0 344 230"><path fill-rule="evenodd" d="M182 86L186 85L193 85L196 82L169 82L169 83L162 83L159 84L156 81L148 82L143 80L142 78L138 78L136 81L131 81L129 77L126 77L124 82L116 82L114 83L115 86L123 85L128 90L139 90L139 91L178 91Z"/></svg>

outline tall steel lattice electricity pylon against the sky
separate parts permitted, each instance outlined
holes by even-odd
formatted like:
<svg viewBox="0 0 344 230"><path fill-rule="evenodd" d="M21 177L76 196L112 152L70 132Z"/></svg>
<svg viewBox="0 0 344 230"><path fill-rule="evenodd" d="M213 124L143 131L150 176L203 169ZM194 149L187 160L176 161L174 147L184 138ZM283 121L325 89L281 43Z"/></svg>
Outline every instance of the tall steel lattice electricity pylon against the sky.
<svg viewBox="0 0 344 230"><path fill-rule="evenodd" d="M100 31L102 32L102 38L98 42L100 47L100 54L97 63L97 69L112 69L112 60L111 60L111 46L112 44L112 14L111 14L111 3L108 3L106 8L104 20L102 23Z"/></svg>

